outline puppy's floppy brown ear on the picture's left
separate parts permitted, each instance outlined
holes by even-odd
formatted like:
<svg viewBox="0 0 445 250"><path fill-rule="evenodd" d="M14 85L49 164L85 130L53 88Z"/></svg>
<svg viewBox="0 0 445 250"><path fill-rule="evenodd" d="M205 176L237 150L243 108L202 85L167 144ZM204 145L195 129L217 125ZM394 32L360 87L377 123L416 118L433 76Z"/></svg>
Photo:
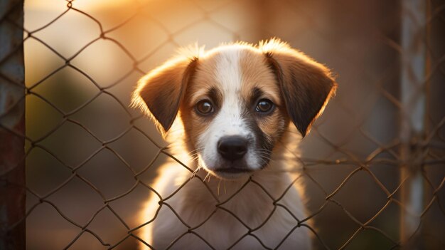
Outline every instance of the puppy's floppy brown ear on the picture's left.
<svg viewBox="0 0 445 250"><path fill-rule="evenodd" d="M197 62L198 58L167 61L141 78L133 92L132 106L149 115L164 137L178 114Z"/></svg>

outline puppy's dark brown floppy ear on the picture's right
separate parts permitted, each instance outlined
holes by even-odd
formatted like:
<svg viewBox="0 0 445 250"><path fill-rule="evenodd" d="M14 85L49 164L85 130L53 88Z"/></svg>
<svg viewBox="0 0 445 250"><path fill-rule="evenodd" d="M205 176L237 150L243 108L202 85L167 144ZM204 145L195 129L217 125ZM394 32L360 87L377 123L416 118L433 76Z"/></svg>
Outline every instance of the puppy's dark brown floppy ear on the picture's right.
<svg viewBox="0 0 445 250"><path fill-rule="evenodd" d="M335 93L337 84L328 68L286 43L269 41L263 51L277 75L287 113L304 137Z"/></svg>

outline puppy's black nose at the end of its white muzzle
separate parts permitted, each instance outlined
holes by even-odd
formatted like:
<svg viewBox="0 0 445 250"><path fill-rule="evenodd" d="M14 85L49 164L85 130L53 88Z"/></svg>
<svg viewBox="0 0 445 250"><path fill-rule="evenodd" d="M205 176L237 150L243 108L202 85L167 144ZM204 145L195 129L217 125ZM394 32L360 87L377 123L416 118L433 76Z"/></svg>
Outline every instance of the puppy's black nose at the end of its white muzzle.
<svg viewBox="0 0 445 250"><path fill-rule="evenodd" d="M240 136L227 136L218 142L218 152L227 160L241 159L247 152L247 140Z"/></svg>

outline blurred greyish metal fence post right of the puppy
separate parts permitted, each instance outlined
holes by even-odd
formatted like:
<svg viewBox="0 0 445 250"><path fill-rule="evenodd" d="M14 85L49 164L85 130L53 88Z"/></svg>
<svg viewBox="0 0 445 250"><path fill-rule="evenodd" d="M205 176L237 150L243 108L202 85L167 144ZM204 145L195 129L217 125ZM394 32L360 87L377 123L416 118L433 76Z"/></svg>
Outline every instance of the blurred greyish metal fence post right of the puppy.
<svg viewBox="0 0 445 250"><path fill-rule="evenodd" d="M425 89L427 82L427 47L424 38L427 25L427 1L406 0L402 4L400 73L400 181L406 181L400 190L403 204L400 213L400 242L409 244L420 226L423 209L424 181L422 177L423 152L419 142L425 129ZM405 210L406 209L406 210ZM413 242L413 241L411 241ZM410 244L409 244L410 245Z"/></svg>

